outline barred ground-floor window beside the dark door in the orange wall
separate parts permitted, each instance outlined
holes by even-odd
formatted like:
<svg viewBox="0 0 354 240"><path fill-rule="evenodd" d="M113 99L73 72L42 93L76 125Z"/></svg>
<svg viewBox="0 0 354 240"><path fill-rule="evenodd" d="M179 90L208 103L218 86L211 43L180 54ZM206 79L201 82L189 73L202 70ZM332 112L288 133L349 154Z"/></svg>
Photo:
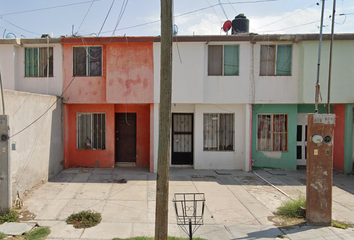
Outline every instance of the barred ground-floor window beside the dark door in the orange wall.
<svg viewBox="0 0 354 240"><path fill-rule="evenodd" d="M77 114L77 149L106 149L106 114Z"/></svg>

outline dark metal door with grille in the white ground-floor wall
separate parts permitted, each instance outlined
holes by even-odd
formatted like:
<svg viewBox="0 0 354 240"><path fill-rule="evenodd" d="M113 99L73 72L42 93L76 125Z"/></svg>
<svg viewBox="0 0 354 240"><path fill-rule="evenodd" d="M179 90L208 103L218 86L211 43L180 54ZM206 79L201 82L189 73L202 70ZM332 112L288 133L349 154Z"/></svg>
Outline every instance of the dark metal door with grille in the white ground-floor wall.
<svg viewBox="0 0 354 240"><path fill-rule="evenodd" d="M193 114L172 114L172 164L193 164Z"/></svg>

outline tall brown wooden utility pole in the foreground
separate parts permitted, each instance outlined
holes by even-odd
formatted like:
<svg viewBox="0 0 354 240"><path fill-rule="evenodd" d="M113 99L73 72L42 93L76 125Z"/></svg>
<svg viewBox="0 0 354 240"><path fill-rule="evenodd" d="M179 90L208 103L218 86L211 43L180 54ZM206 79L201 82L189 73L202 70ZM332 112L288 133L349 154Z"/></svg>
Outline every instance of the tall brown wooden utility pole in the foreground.
<svg viewBox="0 0 354 240"><path fill-rule="evenodd" d="M161 0L161 72L155 240L167 240L172 95L172 0Z"/></svg>

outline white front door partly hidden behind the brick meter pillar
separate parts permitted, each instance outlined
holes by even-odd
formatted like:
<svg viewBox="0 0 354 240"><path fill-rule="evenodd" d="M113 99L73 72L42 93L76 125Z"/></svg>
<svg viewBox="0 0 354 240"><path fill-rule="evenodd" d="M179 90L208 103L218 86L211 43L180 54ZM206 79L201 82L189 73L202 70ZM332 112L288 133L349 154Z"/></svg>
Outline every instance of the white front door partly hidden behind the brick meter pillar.
<svg viewBox="0 0 354 240"><path fill-rule="evenodd" d="M297 115L296 158L297 165L306 166L307 113Z"/></svg>

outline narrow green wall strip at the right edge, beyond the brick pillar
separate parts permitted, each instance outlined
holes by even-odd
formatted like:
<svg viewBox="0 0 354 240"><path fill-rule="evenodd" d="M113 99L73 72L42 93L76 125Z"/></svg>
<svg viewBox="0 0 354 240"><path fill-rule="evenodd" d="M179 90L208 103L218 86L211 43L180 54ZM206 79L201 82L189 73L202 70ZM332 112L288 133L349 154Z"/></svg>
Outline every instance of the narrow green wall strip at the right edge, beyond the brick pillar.
<svg viewBox="0 0 354 240"><path fill-rule="evenodd" d="M353 170L353 104L345 105L344 172Z"/></svg>

